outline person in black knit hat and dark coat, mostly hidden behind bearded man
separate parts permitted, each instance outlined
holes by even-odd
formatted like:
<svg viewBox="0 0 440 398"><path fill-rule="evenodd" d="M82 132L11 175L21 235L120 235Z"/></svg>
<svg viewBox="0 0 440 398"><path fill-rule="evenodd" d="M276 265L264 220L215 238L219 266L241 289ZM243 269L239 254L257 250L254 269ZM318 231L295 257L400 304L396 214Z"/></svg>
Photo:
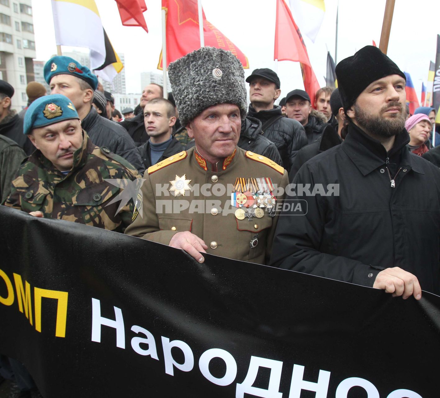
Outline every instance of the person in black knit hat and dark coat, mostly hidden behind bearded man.
<svg viewBox="0 0 440 398"><path fill-rule="evenodd" d="M334 146L341 144L341 131L338 128L338 125L339 120L341 119L341 115L339 115L339 110L341 109L341 111L343 111L343 108L338 89L334 90L330 96L330 107L332 116L336 120L336 130L332 125L326 125L321 137L317 141L312 142L312 144L308 144L305 147L302 147L298 151L289 172L290 182L293 181L293 178L296 176L301 166L309 159L313 158L313 156L316 156L319 153L326 151L327 149L333 148Z"/></svg>

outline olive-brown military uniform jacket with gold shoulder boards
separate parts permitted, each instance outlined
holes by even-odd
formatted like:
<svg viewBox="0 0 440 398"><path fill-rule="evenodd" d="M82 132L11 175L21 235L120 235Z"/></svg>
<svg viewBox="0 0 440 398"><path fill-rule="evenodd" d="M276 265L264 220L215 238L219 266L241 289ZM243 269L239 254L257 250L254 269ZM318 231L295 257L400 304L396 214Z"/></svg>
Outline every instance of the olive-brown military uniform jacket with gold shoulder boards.
<svg viewBox="0 0 440 398"><path fill-rule="evenodd" d="M282 193L276 195L281 203L287 172L270 159L238 147L217 167L218 171L210 170L209 162L198 155L195 147L150 167L138 194L134 221L125 233L169 244L176 232L190 231L205 241L210 254L265 264L271 253L278 213L275 217L264 212L262 218L238 220L231 192L237 177L267 177L282 188ZM184 191L184 196L170 193L170 182L178 177L192 187ZM258 244L251 248L255 237Z"/></svg>

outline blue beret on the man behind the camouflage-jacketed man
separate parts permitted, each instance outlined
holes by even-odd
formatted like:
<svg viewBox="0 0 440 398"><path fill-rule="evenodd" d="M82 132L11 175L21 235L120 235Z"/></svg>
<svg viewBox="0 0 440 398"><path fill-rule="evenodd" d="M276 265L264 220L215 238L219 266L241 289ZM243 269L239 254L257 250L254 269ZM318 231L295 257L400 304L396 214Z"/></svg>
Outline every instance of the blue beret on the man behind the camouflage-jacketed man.
<svg viewBox="0 0 440 398"><path fill-rule="evenodd" d="M92 74L87 66L82 66L73 58L57 55L48 60L44 65L44 80L50 84L51 78L57 74L70 74L79 77L92 87L93 91L98 87L98 78Z"/></svg>

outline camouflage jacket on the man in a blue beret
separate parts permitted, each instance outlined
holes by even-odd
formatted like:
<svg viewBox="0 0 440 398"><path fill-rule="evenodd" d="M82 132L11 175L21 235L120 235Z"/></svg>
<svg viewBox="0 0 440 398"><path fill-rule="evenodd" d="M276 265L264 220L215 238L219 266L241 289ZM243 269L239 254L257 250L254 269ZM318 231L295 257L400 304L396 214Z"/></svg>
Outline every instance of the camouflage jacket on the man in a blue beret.
<svg viewBox="0 0 440 398"><path fill-rule="evenodd" d="M122 190L104 179L135 180L139 174L124 158L96 147L84 130L83 134L82 147L73 154L73 167L67 175L40 151L27 158L12 181L5 206L27 213L40 210L47 218L123 232L131 223L132 200L121 203L119 209L116 196Z"/></svg>

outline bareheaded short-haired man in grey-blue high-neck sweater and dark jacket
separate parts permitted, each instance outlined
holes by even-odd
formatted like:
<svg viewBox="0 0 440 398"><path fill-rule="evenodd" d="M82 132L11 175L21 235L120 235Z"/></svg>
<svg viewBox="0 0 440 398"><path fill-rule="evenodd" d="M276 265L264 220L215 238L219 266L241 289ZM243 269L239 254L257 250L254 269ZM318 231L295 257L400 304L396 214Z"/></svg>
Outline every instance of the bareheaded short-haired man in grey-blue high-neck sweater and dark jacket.
<svg viewBox="0 0 440 398"><path fill-rule="evenodd" d="M175 108L168 99L151 99L143 108L149 140L139 147L145 170L183 151L185 148L172 136L176 123Z"/></svg>

